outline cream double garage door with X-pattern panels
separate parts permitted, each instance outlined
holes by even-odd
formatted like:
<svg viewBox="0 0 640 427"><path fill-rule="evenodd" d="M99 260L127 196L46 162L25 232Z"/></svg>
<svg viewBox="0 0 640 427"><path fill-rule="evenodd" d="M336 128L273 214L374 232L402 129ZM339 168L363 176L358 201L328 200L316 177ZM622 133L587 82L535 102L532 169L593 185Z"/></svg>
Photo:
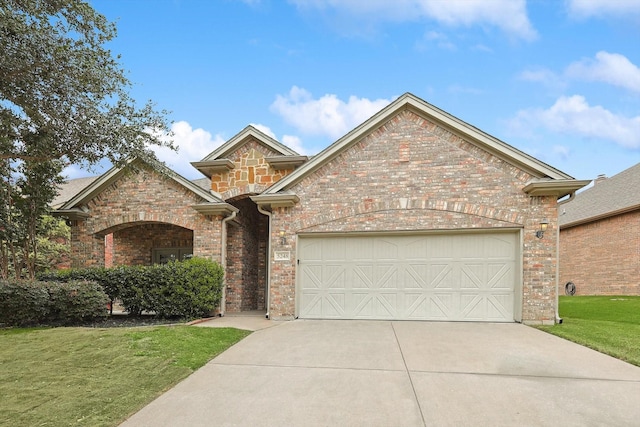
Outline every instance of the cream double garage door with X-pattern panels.
<svg viewBox="0 0 640 427"><path fill-rule="evenodd" d="M298 316L514 321L518 234L301 236Z"/></svg>

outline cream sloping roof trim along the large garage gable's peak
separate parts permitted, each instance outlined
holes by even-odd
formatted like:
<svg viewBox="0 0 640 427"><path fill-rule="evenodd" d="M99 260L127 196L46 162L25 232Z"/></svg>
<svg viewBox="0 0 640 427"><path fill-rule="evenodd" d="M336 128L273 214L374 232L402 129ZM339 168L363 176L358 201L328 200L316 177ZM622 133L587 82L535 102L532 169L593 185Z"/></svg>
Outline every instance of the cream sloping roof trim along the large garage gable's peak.
<svg viewBox="0 0 640 427"><path fill-rule="evenodd" d="M482 132L478 128L440 110L439 108L425 102L424 100L405 93L370 119L353 129L351 132L334 142L318 155L314 156L304 165L300 166L293 173L283 178L281 181L270 187L264 194L274 194L282 190L289 189L309 174L313 173L331 159L338 156L344 150L357 143L370 132L375 131L391 117L397 115L404 109L409 109L425 119L433 121L439 126L460 135L465 140L477 145L492 155L514 165L530 175L542 180L572 180L573 178L558 169L500 141L499 139Z"/></svg>

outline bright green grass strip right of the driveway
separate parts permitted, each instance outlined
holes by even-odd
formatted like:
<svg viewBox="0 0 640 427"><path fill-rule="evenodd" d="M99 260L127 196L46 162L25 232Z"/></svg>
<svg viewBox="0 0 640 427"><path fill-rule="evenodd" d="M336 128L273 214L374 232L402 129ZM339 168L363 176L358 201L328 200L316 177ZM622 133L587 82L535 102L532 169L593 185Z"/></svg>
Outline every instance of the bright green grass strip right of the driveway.
<svg viewBox="0 0 640 427"><path fill-rule="evenodd" d="M539 329L640 366L640 297L561 296L560 317Z"/></svg>

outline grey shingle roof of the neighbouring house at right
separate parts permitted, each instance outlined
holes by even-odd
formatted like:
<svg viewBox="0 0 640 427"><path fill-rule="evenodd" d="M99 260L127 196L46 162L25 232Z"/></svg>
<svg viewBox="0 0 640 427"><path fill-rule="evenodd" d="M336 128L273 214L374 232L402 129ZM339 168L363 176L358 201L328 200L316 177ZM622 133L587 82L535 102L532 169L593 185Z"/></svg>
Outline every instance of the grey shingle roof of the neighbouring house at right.
<svg viewBox="0 0 640 427"><path fill-rule="evenodd" d="M559 208L560 227L640 209L640 163L595 185Z"/></svg>

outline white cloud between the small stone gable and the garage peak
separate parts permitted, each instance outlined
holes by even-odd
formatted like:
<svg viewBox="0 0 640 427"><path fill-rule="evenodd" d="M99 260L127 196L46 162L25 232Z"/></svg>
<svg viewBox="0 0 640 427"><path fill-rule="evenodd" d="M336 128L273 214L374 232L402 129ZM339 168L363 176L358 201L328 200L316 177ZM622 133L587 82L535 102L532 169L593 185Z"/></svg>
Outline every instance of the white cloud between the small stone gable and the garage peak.
<svg viewBox="0 0 640 427"><path fill-rule="evenodd" d="M356 96L350 96L345 102L332 94L314 99L305 89L293 86L287 95L277 95L270 108L302 133L338 138L390 102L389 99L371 101Z"/></svg>

